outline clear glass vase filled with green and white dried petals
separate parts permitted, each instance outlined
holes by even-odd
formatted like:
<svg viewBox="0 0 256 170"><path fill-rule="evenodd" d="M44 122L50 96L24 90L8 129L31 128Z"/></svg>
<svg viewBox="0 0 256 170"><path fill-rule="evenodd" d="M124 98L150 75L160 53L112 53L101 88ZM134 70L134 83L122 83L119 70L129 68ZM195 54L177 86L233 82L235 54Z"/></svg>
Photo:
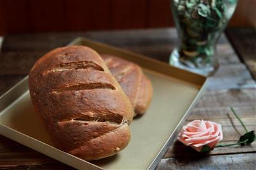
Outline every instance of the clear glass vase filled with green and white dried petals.
<svg viewBox="0 0 256 170"><path fill-rule="evenodd" d="M237 0L171 0L179 44L170 65L202 75L218 68L216 42L232 17Z"/></svg>

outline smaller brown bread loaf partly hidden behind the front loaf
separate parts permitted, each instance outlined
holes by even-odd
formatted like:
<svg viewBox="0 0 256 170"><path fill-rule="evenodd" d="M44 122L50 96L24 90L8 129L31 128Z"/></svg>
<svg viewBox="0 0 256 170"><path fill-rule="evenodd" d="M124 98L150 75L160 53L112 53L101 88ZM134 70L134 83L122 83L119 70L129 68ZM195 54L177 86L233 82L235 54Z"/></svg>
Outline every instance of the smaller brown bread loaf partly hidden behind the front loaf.
<svg viewBox="0 0 256 170"><path fill-rule="evenodd" d="M152 100L153 88L140 66L115 56L107 54L101 56L129 97L135 111L134 116L145 113Z"/></svg>

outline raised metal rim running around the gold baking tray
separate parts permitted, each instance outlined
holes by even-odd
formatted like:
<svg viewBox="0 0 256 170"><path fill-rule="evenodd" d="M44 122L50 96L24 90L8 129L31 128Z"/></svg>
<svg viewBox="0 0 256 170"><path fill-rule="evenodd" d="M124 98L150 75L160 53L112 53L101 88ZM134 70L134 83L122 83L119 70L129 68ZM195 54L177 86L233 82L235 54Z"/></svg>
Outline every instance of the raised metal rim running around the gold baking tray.
<svg viewBox="0 0 256 170"><path fill-rule="evenodd" d="M142 59L147 59L148 61L150 62L157 62L159 63L160 65L167 65L167 66L170 66L168 65L167 63L164 63L162 61L158 61L156 59L152 59L152 58L148 58L146 56L143 56L141 54L136 54L134 52L131 52L129 50L125 50L125 49L120 49L120 48L117 48L117 47L113 47L111 45L106 45L104 43L99 43L99 42L94 42L93 40L90 40L88 38L81 38L81 37L78 37L78 38L75 38L74 40L72 40L72 42L68 43L68 45L76 45L76 43L78 42L81 42L81 41L88 41L88 42L92 42L92 43L95 43L97 45L104 45L104 47L107 47L107 48L110 48L110 49L113 49L113 50L120 50L122 52L126 52L126 53L129 53L129 54L133 54L133 55L136 55L136 56L140 56L140 58ZM173 67L173 66L170 66L170 67ZM198 102L198 100L200 99L200 97L202 96L202 93L203 91L205 90L205 87L207 86L207 77L204 77L203 75L199 75L199 74L196 74L196 73L193 73L193 72L189 72L188 70L181 70L180 68L175 68L173 67L174 69L178 69L179 71L182 71L182 72L187 72L189 73L190 75L196 75L198 77L201 77L201 82L200 84L202 85L198 85L199 86L199 91L198 93L196 94L195 98L193 99L193 102L191 102L191 104L189 105L189 108L187 109L187 111L184 113L184 115L182 116L181 120L179 121L178 125L175 127L175 129L173 130L172 134L170 134L170 137L168 137L168 140L166 141L166 143L164 143L163 147L161 148L161 150L159 150L159 153L156 155L156 157L154 158L154 160L152 161L152 163L150 164L150 166L147 168L147 169L154 169L156 168L157 164L159 163L159 161L161 160L161 158L163 157L165 151L168 149L168 146L170 146L170 144L173 143L173 139L175 139L175 137L177 137L177 134L180 130L180 128L182 127L182 125L184 124L184 122L186 121L186 118L189 116L189 113L192 111L193 107L195 107L196 103ZM154 72L158 72L156 70L153 70ZM160 72L160 73L163 73L163 72ZM171 75L168 75L168 77L172 77ZM173 77L173 78L177 78L177 77ZM179 79L179 78L177 78ZM184 81L184 80L182 80ZM186 81L188 82L188 81ZM13 104L13 102L15 102L15 100L17 100L19 97L21 97L24 93L26 93L26 91L28 90L27 88L24 88L23 86L26 86L26 83L28 83L28 75L26 77L24 77L22 80L20 80L17 84L15 84L12 88L8 89L8 91L6 91L3 95L0 96L0 131L1 129L8 129L10 131L13 131L13 132L16 132L20 135L25 135L26 137L29 137L28 135L26 134L22 134L21 132L18 132L17 130L14 130L10 127L6 127L4 126L3 124L1 124L1 113L6 109L8 108L11 104ZM193 84L193 82L190 82ZM12 97L10 97L12 96ZM2 133L2 135L4 135ZM6 135L4 135L6 136ZM6 136L14 141L17 141L15 140L13 137L11 138L10 136ZM37 141L41 144L44 144L42 141L38 141L37 139L34 139L33 137L29 137L29 139L31 140L34 140L34 141ZM18 141L20 143L20 141ZM24 144L26 146L28 146L28 144L25 144L25 143L21 143L21 144ZM46 144L48 145L48 144ZM48 145L49 146L49 145ZM29 147L29 146L28 146ZM58 150L52 146L50 146L51 148L55 149L55 150ZM29 147L30 148L30 147ZM35 150L34 148L31 148L33 150ZM37 150L38 151L38 150ZM61 150L58 150L58 151L61 151ZM44 153L44 151L40 151L41 153ZM61 151L63 152L63 151ZM63 152L65 153L65 152ZM45 155L51 157L51 155L48 155L47 153L44 153ZM68 154L68 153L67 153ZM68 154L70 155L70 154ZM71 155L72 157L74 157L73 155ZM77 158L77 157L74 157L74 158ZM58 158L55 158L54 159L56 160L59 160ZM77 158L79 159L79 158ZM61 160L60 160L61 161ZM83 160L85 161L85 160ZM63 161L61 161L63 162ZM95 167L96 169L102 169L101 167L95 165L95 164L92 164L90 162L87 162L85 161L86 163L88 163L90 166L90 168L92 167ZM65 164L67 164L67 162L63 162ZM72 167L76 167L72 164L68 164L69 166L72 166ZM91 167L92 165L92 167Z"/></svg>

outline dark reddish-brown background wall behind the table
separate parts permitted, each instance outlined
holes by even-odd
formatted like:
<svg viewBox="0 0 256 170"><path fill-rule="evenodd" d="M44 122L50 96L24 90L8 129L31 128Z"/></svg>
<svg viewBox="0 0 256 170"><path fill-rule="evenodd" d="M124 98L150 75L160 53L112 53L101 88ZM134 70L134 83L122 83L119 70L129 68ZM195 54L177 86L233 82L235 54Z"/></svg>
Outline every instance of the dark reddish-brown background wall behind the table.
<svg viewBox="0 0 256 170"><path fill-rule="evenodd" d="M228 26L256 26L255 6L239 0ZM170 26L170 0L0 0L0 35Z"/></svg>

